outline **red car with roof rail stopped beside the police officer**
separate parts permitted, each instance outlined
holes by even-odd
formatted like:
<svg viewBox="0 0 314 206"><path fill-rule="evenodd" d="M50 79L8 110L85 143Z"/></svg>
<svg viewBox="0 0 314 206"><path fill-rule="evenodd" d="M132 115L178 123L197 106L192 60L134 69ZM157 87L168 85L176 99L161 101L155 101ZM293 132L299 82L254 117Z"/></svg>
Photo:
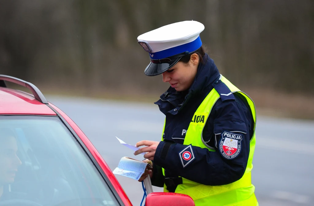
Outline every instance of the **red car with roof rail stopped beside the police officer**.
<svg viewBox="0 0 314 206"><path fill-rule="evenodd" d="M5 82L27 87L32 94L7 88ZM35 85L6 75L0 75L2 205L132 205L81 129ZM194 202L187 195L150 193L145 205Z"/></svg>

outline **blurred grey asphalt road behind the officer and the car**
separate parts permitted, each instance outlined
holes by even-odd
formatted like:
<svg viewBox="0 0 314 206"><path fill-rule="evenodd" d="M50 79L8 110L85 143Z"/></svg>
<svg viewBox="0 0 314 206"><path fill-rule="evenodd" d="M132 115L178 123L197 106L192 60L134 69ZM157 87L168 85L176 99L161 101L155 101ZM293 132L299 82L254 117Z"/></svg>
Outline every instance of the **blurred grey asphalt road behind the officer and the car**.
<svg viewBox="0 0 314 206"><path fill-rule="evenodd" d="M89 137L110 166L133 151L120 145L140 140L160 141L164 115L153 103L110 101L48 96ZM252 183L259 205L310 206L314 202L314 121L257 117L257 144ZM133 205L143 197L140 182L116 175ZM162 191L154 187L154 192Z"/></svg>

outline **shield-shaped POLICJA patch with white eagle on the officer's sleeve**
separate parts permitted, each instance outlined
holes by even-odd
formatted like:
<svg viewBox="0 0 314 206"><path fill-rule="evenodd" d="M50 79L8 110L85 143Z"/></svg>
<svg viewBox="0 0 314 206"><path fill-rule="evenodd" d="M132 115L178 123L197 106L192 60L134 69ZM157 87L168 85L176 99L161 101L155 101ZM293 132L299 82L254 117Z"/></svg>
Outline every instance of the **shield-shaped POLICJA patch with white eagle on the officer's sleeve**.
<svg viewBox="0 0 314 206"><path fill-rule="evenodd" d="M236 158L241 152L241 134L224 131L219 141L219 152L227 160Z"/></svg>

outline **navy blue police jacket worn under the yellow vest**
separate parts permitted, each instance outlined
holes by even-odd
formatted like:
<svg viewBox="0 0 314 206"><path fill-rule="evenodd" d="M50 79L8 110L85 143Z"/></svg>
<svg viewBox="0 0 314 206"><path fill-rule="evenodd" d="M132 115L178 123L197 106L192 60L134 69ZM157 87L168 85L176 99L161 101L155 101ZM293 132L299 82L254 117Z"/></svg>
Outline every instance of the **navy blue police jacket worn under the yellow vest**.
<svg viewBox="0 0 314 206"><path fill-rule="evenodd" d="M216 151L192 146L192 151L190 150L194 156L192 161L186 164L180 157L182 154L180 152L184 152L187 148L187 145L183 145L186 130L204 98L215 84L223 84L219 88L229 90L219 77L220 74L214 61L205 54L203 64L199 64L195 80L188 91L176 92L170 87L160 96L160 100L155 102L160 111L165 114L166 124L164 141L158 145L153 161L152 184L154 186L162 187L165 177L180 176L204 185L216 186L235 182L243 176L248 161L254 122L246 99L238 93L221 96L214 104L204 126L203 140L208 148ZM223 91L223 93L227 94L228 91ZM222 152L219 152L219 143L223 140L221 134L224 131L241 135L242 138L239 143L241 151L233 159L227 159ZM161 167L165 168L165 176L162 175Z"/></svg>

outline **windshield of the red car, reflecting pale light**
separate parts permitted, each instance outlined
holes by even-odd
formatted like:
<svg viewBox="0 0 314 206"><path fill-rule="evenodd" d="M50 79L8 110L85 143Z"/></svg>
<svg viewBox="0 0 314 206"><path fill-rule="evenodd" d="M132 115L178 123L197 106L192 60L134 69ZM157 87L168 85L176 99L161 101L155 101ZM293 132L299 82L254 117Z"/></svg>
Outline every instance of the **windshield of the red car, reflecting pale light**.
<svg viewBox="0 0 314 206"><path fill-rule="evenodd" d="M0 116L0 205L6 202L119 205L67 127L48 116Z"/></svg>

